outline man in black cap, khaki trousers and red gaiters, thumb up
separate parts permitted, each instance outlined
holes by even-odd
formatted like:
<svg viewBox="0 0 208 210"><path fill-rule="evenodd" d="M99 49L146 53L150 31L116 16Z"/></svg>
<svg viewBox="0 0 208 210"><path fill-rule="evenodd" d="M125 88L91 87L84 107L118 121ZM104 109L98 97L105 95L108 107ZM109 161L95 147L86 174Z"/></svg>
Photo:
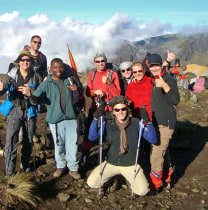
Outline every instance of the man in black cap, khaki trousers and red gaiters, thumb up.
<svg viewBox="0 0 208 210"><path fill-rule="evenodd" d="M163 181L170 184L173 173L168 146L176 125L176 105L180 97L176 80L162 68L160 55L150 54L148 67L154 78L151 97L152 119L160 137L158 145L152 146L150 178L152 188L159 189L163 186Z"/></svg>

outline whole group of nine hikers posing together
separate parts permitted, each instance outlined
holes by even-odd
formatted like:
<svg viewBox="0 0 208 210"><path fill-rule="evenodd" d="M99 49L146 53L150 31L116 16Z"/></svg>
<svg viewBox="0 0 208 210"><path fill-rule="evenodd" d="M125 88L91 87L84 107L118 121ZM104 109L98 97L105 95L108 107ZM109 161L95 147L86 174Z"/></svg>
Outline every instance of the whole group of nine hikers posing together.
<svg viewBox="0 0 208 210"><path fill-rule="evenodd" d="M108 152L103 162L101 155L100 165L87 178L89 187L101 188L116 175L122 175L132 192L140 196L170 184L173 168L168 146L180 97L176 80L166 70L175 54L167 51L162 61L159 54L149 53L143 62L125 61L115 71L103 52L96 53L96 68L88 75L84 94L79 78L73 69L66 70L61 58L53 58L47 71L46 56L39 51L41 41L40 36L32 36L30 46L19 53L0 80L0 93L7 93L6 101L11 105L6 114L6 176L15 173L20 128L21 168L31 171L38 104L46 104L46 121L54 142L55 178L69 171L75 180L80 179L80 162L88 160L93 142L100 139L100 145L108 143ZM83 95L90 97L92 104L79 159L77 130ZM150 155L148 174L140 164L141 154L142 158Z"/></svg>

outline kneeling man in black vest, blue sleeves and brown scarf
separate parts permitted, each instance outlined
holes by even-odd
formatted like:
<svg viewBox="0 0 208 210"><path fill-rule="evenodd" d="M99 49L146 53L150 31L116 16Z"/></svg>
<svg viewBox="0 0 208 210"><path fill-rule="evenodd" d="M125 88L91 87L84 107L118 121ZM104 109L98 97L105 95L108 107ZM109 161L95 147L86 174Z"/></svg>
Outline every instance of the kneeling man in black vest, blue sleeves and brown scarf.
<svg viewBox="0 0 208 210"><path fill-rule="evenodd" d="M133 192L137 195L146 195L149 191L148 181L141 166L137 163L135 177L135 163L138 148L138 138L142 135L151 143L157 142L156 132L152 125L142 128L140 133L140 122L137 118L131 117L128 108L128 99L124 96L116 96L110 102L112 107L111 119L106 119L102 126L102 134L106 136L109 143L109 150L106 160L102 163L101 185L116 175L122 175L130 183ZM99 138L100 128L98 119L104 115L103 105L94 113L94 120L89 130L89 140ZM134 181L135 177L135 181ZM91 188L99 188L100 166L97 166L87 179Z"/></svg>

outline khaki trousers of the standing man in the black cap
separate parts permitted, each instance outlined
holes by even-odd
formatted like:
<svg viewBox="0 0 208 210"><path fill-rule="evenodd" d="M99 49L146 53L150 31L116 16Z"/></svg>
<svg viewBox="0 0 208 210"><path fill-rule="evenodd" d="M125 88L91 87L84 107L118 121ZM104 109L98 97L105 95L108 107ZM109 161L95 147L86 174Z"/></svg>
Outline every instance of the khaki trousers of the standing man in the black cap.
<svg viewBox="0 0 208 210"><path fill-rule="evenodd" d="M169 142L172 138L174 129L169 129L167 126L159 126L159 143L152 145L152 154L150 156L151 170L163 171L170 167Z"/></svg>

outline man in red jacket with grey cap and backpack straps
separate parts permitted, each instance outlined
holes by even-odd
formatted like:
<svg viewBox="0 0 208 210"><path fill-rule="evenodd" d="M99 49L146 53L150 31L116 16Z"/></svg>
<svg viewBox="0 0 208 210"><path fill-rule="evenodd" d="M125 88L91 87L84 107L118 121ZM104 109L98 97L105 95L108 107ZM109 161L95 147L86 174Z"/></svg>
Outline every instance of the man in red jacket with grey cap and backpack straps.
<svg viewBox="0 0 208 210"><path fill-rule="evenodd" d="M93 120L93 113L98 108L98 103L101 103L101 101L107 102L114 96L120 96L121 92L118 73L107 68L107 58L105 54L96 53L93 63L96 69L89 73L86 88L86 96L92 98L92 104L86 122L85 137L82 142L82 153L83 156L86 157L92 145L92 142L88 141L89 127ZM101 99L101 101L99 101L99 99ZM105 107L105 111L111 110L110 107Z"/></svg>

